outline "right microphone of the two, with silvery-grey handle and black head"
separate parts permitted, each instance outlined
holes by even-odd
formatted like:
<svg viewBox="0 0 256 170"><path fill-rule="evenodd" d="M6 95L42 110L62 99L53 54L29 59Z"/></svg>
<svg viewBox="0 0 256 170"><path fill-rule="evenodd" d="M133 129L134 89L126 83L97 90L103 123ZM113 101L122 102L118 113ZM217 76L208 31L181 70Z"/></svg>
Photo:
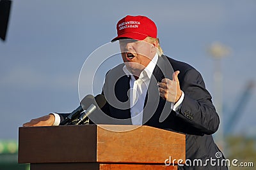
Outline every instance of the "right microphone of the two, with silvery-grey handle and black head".
<svg viewBox="0 0 256 170"><path fill-rule="evenodd" d="M100 110L106 104L106 99L102 94L98 94L95 97L95 101L92 102L88 109L81 114L81 116L77 119L76 122L73 123L73 125L79 125L83 123L85 118L88 117L93 111Z"/></svg>

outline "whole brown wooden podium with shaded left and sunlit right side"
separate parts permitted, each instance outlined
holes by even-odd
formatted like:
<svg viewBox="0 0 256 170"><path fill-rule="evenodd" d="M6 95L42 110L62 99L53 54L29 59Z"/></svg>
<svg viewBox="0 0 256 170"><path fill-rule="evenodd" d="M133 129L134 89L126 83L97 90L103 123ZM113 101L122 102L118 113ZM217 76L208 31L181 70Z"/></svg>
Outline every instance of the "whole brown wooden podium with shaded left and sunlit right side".
<svg viewBox="0 0 256 170"><path fill-rule="evenodd" d="M18 162L31 170L177 169L185 155L184 134L144 125L19 127Z"/></svg>

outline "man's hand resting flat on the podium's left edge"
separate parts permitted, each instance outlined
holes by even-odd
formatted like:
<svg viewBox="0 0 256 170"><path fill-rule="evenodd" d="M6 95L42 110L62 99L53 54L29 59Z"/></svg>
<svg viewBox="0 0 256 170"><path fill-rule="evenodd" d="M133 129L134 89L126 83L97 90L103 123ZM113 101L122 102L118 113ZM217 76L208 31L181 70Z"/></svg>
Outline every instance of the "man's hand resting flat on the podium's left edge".
<svg viewBox="0 0 256 170"><path fill-rule="evenodd" d="M55 117L54 115L45 115L44 117L35 118L23 124L24 127L31 127L31 126L51 126L54 124Z"/></svg>

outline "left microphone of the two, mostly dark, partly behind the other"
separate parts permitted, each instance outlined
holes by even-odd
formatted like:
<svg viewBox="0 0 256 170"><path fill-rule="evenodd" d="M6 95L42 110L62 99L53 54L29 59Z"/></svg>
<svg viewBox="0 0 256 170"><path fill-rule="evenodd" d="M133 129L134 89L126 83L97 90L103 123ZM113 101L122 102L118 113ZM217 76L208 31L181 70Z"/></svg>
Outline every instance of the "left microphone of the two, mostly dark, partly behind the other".
<svg viewBox="0 0 256 170"><path fill-rule="evenodd" d="M94 97L90 94L85 96L80 102L80 106L76 108L76 110L72 111L63 121L61 121L60 125L67 125L69 122L77 118L81 112L88 109L88 103L92 103L93 99Z"/></svg>

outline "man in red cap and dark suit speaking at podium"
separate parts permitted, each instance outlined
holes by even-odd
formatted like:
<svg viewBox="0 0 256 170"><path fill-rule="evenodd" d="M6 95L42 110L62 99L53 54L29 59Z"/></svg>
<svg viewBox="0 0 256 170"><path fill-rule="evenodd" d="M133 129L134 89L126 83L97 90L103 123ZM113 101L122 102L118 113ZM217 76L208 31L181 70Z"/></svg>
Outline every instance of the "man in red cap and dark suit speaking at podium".
<svg viewBox="0 0 256 170"><path fill-rule="evenodd" d="M116 29L118 36L112 41L119 41L124 64L106 74L102 93L108 103L102 114L108 118L98 121L95 114L96 118L90 117L93 122L150 125L186 134L186 159L200 159L202 164L179 169L227 169L221 164L225 158L216 157L221 152L212 134L220 119L201 74L189 64L163 55L156 24L149 18L128 15ZM24 126L58 125L65 117L50 114Z"/></svg>

